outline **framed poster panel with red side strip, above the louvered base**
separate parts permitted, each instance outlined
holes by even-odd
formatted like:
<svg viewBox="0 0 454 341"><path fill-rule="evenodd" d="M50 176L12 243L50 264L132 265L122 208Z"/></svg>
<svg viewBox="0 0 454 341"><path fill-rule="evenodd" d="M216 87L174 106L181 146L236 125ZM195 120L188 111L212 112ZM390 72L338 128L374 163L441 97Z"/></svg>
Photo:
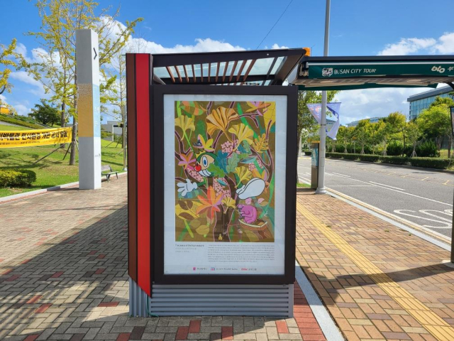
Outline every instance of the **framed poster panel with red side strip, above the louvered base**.
<svg viewBox="0 0 454 341"><path fill-rule="evenodd" d="M133 286L292 286L297 87L150 85L152 59L126 55Z"/></svg>

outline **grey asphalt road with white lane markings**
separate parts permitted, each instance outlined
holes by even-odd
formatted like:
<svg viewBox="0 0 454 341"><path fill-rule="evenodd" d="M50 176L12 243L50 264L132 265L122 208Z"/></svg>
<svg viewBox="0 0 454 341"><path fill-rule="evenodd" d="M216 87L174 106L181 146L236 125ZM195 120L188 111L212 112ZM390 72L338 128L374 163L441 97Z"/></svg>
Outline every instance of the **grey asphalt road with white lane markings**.
<svg viewBox="0 0 454 341"><path fill-rule="evenodd" d="M325 168L327 188L451 237L453 173L333 159ZM299 178L310 174L311 158L299 158Z"/></svg>

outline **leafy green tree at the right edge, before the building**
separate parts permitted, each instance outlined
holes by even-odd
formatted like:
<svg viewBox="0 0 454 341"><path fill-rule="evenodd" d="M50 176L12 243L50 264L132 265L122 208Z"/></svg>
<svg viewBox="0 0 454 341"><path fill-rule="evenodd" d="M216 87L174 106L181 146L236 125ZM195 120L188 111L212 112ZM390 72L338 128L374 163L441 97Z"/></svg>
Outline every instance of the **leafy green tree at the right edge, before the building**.
<svg viewBox="0 0 454 341"><path fill-rule="evenodd" d="M438 151L441 149L444 139L448 137L448 158L450 158L453 135L448 104L428 107L421 112L416 119L416 123L423 131L424 136L429 139L435 139Z"/></svg>

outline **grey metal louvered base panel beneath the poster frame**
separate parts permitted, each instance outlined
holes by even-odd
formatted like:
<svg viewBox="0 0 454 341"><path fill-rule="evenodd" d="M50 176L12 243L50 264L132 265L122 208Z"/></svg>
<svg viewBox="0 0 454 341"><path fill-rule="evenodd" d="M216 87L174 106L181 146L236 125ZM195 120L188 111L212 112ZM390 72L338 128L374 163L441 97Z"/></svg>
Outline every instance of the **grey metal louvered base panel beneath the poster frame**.
<svg viewBox="0 0 454 341"><path fill-rule="evenodd" d="M153 285L150 313L293 317L291 285ZM131 310L131 308L130 308Z"/></svg>

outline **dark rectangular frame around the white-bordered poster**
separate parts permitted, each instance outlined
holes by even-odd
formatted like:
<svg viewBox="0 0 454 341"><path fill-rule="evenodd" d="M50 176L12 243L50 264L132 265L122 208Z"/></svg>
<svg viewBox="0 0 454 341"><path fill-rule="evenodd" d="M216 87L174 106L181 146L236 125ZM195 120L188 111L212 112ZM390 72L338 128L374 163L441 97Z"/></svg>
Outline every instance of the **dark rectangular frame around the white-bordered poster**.
<svg viewBox="0 0 454 341"><path fill-rule="evenodd" d="M240 91L239 91L240 90ZM287 96L287 122L297 120L297 87L209 87L205 85L153 86L153 112L164 112L165 94L238 94L238 95L284 95ZM153 144L155 170L153 196L156 205L153 210L153 225L164 226L164 117L153 115ZM164 229L154 229L154 281L162 284L292 284L295 277L295 240L297 188L297 126L287 124L287 155L285 173L285 256L284 275L165 275L164 274Z"/></svg>

